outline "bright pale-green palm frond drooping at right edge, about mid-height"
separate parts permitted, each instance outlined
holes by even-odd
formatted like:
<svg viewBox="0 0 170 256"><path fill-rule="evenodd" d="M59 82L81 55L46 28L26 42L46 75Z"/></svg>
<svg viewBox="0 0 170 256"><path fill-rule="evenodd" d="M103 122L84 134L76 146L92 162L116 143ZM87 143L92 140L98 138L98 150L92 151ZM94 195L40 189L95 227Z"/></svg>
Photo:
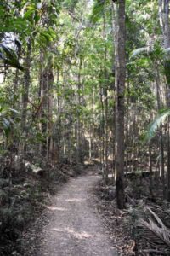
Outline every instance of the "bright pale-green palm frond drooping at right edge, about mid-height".
<svg viewBox="0 0 170 256"><path fill-rule="evenodd" d="M150 140L156 136L157 129L160 128L161 124L163 124L167 117L170 115L170 109L163 111L159 114L156 119L149 125L149 129L146 135L146 141L150 143Z"/></svg>

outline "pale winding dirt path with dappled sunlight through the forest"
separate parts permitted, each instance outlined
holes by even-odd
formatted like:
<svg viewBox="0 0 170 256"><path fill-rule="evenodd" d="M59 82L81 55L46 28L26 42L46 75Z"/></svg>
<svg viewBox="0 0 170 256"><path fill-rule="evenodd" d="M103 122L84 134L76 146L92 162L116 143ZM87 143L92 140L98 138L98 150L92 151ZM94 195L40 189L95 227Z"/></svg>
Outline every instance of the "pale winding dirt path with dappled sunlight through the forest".
<svg viewBox="0 0 170 256"><path fill-rule="evenodd" d="M99 180L86 175L72 178L54 195L43 228L37 256L117 256L101 219L89 204L89 190Z"/></svg>

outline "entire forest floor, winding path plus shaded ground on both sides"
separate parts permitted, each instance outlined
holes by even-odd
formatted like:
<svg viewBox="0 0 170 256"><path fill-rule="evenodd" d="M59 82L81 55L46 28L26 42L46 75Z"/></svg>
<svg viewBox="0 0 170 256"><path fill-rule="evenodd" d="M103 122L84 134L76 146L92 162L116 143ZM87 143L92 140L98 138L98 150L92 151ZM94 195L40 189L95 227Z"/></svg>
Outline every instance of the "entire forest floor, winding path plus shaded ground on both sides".
<svg viewBox="0 0 170 256"><path fill-rule="evenodd" d="M126 178L126 208L119 210L112 178L105 185L98 165L47 170L43 177L20 172L11 186L0 178L0 256L170 255L158 220L169 236L170 204L157 196L157 176L151 198L150 177Z"/></svg>

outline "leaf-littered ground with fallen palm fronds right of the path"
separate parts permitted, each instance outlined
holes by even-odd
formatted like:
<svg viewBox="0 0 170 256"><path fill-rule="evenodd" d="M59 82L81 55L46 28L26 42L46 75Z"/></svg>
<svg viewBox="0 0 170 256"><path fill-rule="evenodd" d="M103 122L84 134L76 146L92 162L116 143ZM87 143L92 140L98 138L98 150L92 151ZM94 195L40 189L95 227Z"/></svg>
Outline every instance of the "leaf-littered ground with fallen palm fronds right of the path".
<svg viewBox="0 0 170 256"><path fill-rule="evenodd" d="M116 187L112 179L111 185L99 180L94 186L94 207L122 256L170 255L170 203L162 198L157 175L152 181L150 197L150 177L127 177L123 210L116 207Z"/></svg>

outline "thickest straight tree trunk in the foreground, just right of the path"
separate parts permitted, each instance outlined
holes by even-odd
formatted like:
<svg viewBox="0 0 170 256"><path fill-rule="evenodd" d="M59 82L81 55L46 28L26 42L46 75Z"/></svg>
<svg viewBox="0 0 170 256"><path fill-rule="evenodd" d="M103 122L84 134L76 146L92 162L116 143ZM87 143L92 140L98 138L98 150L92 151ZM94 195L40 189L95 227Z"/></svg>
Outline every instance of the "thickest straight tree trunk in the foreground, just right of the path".
<svg viewBox="0 0 170 256"><path fill-rule="evenodd" d="M117 4L117 3L116 3ZM118 45L116 45L116 201L125 207L124 195L124 91L125 59L125 0L118 2Z"/></svg>

